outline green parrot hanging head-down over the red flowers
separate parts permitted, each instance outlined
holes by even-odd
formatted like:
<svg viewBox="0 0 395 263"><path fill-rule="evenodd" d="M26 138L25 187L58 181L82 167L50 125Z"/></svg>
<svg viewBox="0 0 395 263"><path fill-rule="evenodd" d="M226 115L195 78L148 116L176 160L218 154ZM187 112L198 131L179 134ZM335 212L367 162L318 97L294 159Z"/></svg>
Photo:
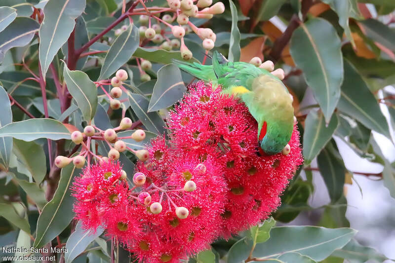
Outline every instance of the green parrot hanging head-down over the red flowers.
<svg viewBox="0 0 395 263"><path fill-rule="evenodd" d="M217 51L212 62L207 66L173 61L199 79L222 85L222 93L239 97L258 122L258 142L266 154L283 150L291 138L294 115L292 98L282 81L250 63L229 62Z"/></svg>

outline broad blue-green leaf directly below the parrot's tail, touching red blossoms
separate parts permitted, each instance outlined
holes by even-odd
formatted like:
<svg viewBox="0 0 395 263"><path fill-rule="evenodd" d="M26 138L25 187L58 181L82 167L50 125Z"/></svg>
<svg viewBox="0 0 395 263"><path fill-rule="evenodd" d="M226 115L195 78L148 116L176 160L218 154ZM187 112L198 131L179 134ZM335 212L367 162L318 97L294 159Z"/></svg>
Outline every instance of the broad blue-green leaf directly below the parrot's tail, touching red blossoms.
<svg viewBox="0 0 395 263"><path fill-rule="evenodd" d="M161 67L158 70L158 80L155 83L148 112L167 108L182 98L187 87L181 77L180 69L174 64Z"/></svg>

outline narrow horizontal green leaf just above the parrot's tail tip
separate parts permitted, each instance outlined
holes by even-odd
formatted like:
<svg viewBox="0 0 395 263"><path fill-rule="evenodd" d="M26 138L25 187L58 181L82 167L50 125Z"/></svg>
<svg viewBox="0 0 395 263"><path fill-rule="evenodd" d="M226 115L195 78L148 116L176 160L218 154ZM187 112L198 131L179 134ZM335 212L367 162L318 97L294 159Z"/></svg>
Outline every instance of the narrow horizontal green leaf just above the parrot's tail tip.
<svg viewBox="0 0 395 263"><path fill-rule="evenodd" d="M133 54L133 57L142 58L145 60L149 60L151 62L156 62L160 64L170 64L173 59L183 60L180 51L166 51L164 49L155 49L155 48L144 48L138 47ZM190 63L199 61L196 58L192 58L190 60L185 60Z"/></svg>

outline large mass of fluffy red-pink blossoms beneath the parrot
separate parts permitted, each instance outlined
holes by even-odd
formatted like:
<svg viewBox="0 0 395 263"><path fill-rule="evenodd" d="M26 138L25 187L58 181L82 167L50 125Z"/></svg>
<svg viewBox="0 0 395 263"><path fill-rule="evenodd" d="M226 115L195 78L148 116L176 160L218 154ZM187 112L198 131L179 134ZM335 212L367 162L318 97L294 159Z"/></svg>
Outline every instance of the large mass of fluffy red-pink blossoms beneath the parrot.
<svg viewBox="0 0 395 263"><path fill-rule="evenodd" d="M210 84L190 87L167 124L170 139L152 140L134 186L111 160L73 185L84 227L104 226L139 262L180 262L266 219L302 163L296 127L287 150L265 155L245 105Z"/></svg>

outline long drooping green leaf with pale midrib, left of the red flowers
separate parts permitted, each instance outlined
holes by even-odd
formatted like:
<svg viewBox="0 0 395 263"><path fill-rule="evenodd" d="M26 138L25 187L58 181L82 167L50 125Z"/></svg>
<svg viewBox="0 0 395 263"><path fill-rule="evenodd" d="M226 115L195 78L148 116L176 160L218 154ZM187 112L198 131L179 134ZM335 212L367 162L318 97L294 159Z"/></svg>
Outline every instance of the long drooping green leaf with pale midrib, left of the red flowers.
<svg viewBox="0 0 395 263"><path fill-rule="evenodd" d="M71 182L80 172L73 163L62 168L58 188L52 198L42 209L37 221L37 233L33 246L40 248L59 235L74 218L71 195Z"/></svg>

